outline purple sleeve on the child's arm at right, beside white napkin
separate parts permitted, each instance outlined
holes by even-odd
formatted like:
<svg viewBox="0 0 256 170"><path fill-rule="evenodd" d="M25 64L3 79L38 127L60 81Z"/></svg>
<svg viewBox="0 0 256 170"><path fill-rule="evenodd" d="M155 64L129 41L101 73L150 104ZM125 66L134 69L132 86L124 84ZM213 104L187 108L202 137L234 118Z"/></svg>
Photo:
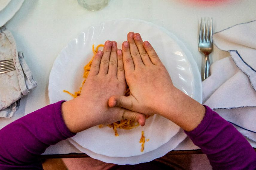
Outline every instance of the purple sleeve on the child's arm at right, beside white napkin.
<svg viewBox="0 0 256 170"><path fill-rule="evenodd" d="M256 152L231 123L210 107L201 123L185 132L202 149L213 169L256 169Z"/></svg>

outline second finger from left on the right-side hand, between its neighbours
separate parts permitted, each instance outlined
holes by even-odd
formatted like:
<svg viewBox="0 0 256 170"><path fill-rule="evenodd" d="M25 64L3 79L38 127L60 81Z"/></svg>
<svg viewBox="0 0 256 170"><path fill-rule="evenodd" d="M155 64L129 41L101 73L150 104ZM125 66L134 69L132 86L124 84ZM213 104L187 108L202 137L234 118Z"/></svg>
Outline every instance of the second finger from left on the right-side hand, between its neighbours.
<svg viewBox="0 0 256 170"><path fill-rule="evenodd" d="M129 45L130 45L130 52L131 52L132 60L135 65L135 68L136 68L136 67L139 67L144 64L141 60L140 53L139 53L138 48L133 39L133 35L134 35L134 32L129 32L127 35L127 39L128 39Z"/></svg>

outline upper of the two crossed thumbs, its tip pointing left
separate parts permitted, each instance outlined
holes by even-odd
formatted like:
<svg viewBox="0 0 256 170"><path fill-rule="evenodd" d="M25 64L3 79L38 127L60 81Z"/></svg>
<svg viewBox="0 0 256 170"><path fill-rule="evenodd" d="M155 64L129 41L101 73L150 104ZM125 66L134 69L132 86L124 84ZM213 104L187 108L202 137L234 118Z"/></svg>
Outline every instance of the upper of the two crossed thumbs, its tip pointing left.
<svg viewBox="0 0 256 170"><path fill-rule="evenodd" d="M111 96L109 98L109 107L124 107L126 109L133 109L133 102L131 96Z"/></svg>

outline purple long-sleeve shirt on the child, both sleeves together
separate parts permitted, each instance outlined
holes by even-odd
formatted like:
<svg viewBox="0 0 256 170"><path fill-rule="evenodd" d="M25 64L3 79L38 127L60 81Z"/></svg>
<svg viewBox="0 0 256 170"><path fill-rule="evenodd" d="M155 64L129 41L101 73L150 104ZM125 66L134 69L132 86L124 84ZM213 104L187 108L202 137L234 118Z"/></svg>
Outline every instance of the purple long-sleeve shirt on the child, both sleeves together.
<svg viewBox="0 0 256 170"><path fill-rule="evenodd" d="M63 101L30 113L0 130L0 169L42 169L39 155L74 136L61 113ZM201 123L186 132L207 154L213 169L256 169L256 152L246 139L216 112L206 107Z"/></svg>

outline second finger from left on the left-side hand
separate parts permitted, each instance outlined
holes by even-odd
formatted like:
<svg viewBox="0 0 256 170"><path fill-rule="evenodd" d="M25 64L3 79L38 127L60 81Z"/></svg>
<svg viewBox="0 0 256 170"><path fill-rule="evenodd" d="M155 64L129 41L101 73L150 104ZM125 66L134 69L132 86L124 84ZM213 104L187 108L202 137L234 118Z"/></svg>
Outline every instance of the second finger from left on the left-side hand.
<svg viewBox="0 0 256 170"><path fill-rule="evenodd" d="M103 48L103 55L100 60L100 71L99 74L107 74L109 69L109 56L111 52L111 41L106 41Z"/></svg>

